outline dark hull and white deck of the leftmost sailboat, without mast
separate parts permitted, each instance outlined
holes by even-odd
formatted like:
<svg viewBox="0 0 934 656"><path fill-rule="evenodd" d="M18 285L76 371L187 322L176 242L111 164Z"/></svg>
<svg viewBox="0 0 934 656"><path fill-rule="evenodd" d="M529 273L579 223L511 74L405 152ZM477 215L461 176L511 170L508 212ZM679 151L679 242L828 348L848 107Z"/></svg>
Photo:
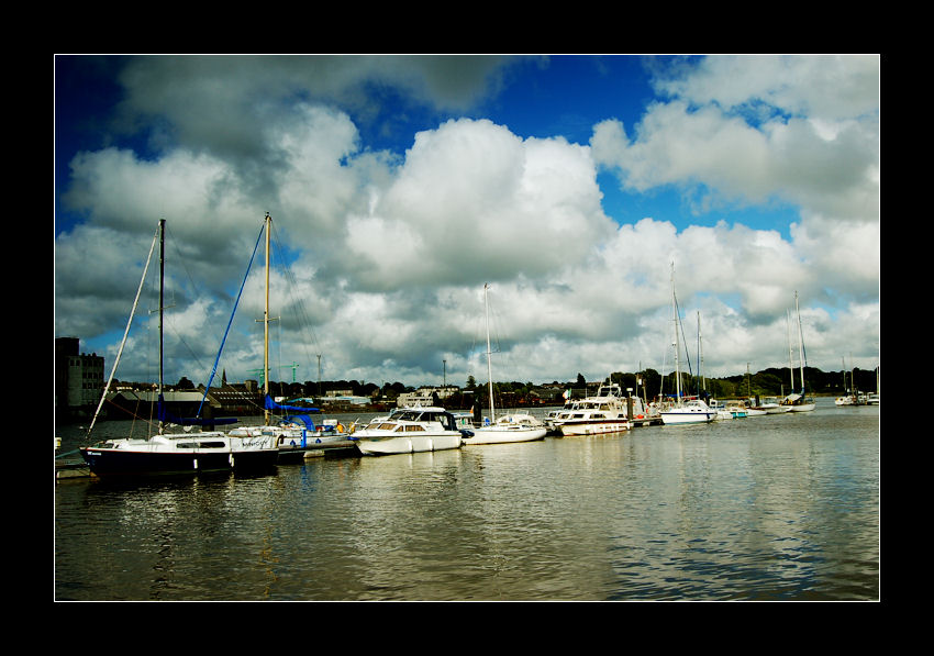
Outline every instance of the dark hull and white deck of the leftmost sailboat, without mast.
<svg viewBox="0 0 934 656"><path fill-rule="evenodd" d="M202 474L210 471L257 471L275 469L279 449L275 447L238 447L224 441L218 446L173 449L153 444L123 446L88 446L81 457L94 476L148 476Z"/></svg>

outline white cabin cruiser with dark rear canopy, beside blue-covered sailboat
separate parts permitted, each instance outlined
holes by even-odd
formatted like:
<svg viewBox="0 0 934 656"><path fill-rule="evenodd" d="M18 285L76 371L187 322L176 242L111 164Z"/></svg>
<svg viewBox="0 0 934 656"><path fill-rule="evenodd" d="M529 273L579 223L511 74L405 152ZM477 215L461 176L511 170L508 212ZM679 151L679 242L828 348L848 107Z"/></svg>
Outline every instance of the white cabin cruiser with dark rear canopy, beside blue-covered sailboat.
<svg viewBox="0 0 934 656"><path fill-rule="evenodd" d="M460 448L466 429L458 429L444 408L400 408L379 423L370 422L348 440L362 454L381 456ZM467 431L469 432L469 431Z"/></svg>

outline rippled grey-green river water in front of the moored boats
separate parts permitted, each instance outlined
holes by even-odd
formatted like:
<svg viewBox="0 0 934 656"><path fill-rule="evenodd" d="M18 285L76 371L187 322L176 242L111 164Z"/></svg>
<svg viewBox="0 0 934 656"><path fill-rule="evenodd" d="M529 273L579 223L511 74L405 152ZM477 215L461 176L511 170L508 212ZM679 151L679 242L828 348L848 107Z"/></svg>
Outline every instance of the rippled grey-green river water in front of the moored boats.
<svg viewBox="0 0 934 656"><path fill-rule="evenodd" d="M875 601L879 496L879 407L832 399L268 476L64 480L55 599Z"/></svg>

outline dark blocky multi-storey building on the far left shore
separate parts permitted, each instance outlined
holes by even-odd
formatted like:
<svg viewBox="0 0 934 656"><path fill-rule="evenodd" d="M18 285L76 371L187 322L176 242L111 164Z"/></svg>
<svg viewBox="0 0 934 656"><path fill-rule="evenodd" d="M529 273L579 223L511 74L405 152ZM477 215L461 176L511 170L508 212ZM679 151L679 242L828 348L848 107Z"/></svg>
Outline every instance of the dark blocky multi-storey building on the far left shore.
<svg viewBox="0 0 934 656"><path fill-rule="evenodd" d="M93 414L103 393L103 356L79 352L78 337L55 338L55 409Z"/></svg>

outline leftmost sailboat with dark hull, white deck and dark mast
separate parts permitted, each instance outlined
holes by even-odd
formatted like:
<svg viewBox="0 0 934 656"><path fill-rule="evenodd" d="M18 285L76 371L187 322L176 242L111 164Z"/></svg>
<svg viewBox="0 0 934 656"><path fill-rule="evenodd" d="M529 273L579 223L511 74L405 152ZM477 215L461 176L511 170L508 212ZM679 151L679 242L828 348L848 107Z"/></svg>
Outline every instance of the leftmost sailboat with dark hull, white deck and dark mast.
<svg viewBox="0 0 934 656"><path fill-rule="evenodd" d="M120 345L104 397L98 404L98 410L91 421L88 435L94 427L98 413L116 373L120 356L126 344L126 336L133 322L133 314L140 301L140 291L148 271L149 260L155 249L156 240L159 243L159 421L158 432L147 438L122 437L105 440L91 446L80 447L81 457L88 464L91 474L96 476L147 476L155 474L198 474L204 471L231 471L244 469L266 469L276 466L278 449L268 436L232 436L220 431L166 433L166 414L163 407L163 289L165 278L165 220L159 221L158 232L149 249L149 258L143 271L143 280L136 292L126 332ZM189 422L194 423L194 422ZM222 423L218 421L203 423Z"/></svg>

